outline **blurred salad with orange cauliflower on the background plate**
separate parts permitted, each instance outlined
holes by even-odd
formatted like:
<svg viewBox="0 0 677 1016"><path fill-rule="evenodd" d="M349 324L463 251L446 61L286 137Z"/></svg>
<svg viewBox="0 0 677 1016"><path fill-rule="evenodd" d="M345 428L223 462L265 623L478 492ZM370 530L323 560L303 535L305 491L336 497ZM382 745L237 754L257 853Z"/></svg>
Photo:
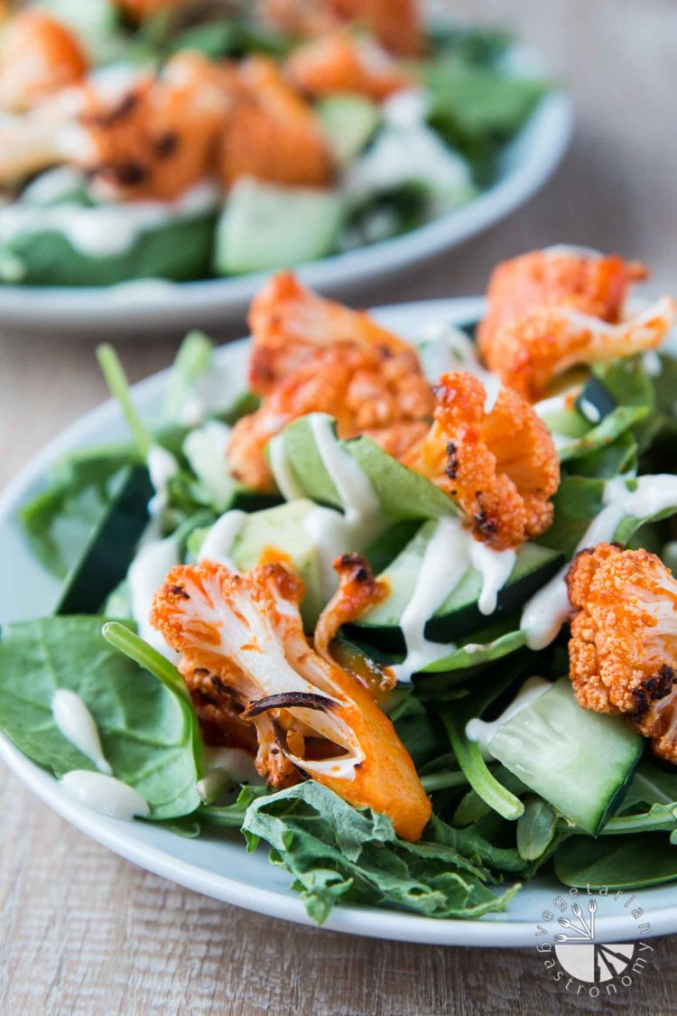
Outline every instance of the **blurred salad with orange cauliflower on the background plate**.
<svg viewBox="0 0 677 1016"><path fill-rule="evenodd" d="M501 33L426 28L415 0L11 7L0 283L187 281L398 236L489 187L546 90Z"/></svg>

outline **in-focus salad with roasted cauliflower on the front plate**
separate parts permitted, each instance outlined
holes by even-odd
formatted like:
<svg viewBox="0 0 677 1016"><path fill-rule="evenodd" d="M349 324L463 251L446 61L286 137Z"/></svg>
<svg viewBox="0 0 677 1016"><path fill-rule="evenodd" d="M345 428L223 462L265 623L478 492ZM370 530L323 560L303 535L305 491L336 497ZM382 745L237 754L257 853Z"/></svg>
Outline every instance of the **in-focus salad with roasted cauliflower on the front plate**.
<svg viewBox="0 0 677 1016"><path fill-rule="evenodd" d="M3 632L0 728L89 808L267 844L320 923L677 878L677 304L645 276L534 251L405 338L284 272L240 353L186 338L154 422L101 347L130 440L21 511L64 579Z"/></svg>

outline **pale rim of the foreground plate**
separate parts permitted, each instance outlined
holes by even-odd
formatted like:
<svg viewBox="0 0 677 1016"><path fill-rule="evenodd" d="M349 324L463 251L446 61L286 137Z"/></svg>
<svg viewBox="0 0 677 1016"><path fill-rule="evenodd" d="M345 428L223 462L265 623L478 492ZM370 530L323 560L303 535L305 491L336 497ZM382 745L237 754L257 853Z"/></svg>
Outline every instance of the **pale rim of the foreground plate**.
<svg viewBox="0 0 677 1016"><path fill-rule="evenodd" d="M383 319L409 314L412 318L429 321L444 315L450 323L463 323L476 319L481 314L483 303L483 299L478 297L424 300L374 308L373 313ZM227 358L238 348L242 350L248 341L247 338L241 338L224 343L218 346L217 356ZM165 368L137 382L132 386L133 396L141 400L148 398L153 390L161 388L170 371L171 368ZM86 437L92 425L101 424L119 414L117 402L109 398L78 417L31 456L0 492L0 526L11 522L22 496L45 474L46 468L56 458L82 437ZM309 917L297 897L207 872L199 865L173 856L161 847L140 840L135 835L135 830L139 828L135 823L109 819L72 801L54 776L26 758L2 734L0 758L44 804L85 835L138 867L224 903L293 924L319 927ZM677 892L677 887L675 890ZM561 891L563 893L568 890L563 888ZM675 905L647 909L646 915L651 922L652 937L677 932L677 897ZM535 948L537 942L536 922L533 918L509 918L504 913L491 914L481 919L437 919L377 907L337 906L322 930L424 945ZM628 935L627 917L623 920L622 915L598 917L597 933L598 938L604 937L607 941L622 941L632 937Z"/></svg>

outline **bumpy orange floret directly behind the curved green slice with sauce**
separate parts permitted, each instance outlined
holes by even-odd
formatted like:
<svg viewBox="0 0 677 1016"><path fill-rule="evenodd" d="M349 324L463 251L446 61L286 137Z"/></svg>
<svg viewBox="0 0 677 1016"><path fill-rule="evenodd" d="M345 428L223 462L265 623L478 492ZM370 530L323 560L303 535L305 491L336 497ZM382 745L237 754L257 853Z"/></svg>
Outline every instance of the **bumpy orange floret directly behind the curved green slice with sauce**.
<svg viewBox="0 0 677 1016"><path fill-rule="evenodd" d="M228 467L251 490L274 490L265 450L287 424L309 412L327 412L341 438L365 434L389 451L404 453L428 427L432 393L416 353L339 342L304 360L235 425Z"/></svg>

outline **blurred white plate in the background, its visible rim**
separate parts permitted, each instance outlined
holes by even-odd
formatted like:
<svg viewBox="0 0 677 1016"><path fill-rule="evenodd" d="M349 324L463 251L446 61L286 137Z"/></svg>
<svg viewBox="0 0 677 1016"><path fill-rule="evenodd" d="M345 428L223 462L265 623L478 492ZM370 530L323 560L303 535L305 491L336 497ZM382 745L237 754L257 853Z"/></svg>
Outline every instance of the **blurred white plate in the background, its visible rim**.
<svg viewBox="0 0 677 1016"><path fill-rule="evenodd" d="M527 63L538 66L533 56ZM561 92L546 96L506 147L499 178L488 190L403 237L309 263L299 269L300 278L325 293L341 293L475 236L545 183L566 149L571 123L570 100ZM95 289L0 285L0 325L77 331L93 338L218 328L242 318L265 277L257 273L180 283L150 279Z"/></svg>

